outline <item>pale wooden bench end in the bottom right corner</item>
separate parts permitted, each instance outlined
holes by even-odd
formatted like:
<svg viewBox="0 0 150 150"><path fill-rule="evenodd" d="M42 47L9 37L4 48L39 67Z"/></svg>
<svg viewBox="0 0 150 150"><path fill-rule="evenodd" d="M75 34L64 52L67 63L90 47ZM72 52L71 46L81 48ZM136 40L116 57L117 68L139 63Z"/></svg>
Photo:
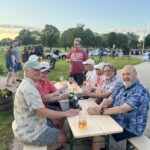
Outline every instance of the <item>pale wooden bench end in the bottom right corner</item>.
<svg viewBox="0 0 150 150"><path fill-rule="evenodd" d="M131 148L132 146L132 148ZM127 150L136 148L138 150L150 150L150 139L145 135L127 139Z"/></svg>

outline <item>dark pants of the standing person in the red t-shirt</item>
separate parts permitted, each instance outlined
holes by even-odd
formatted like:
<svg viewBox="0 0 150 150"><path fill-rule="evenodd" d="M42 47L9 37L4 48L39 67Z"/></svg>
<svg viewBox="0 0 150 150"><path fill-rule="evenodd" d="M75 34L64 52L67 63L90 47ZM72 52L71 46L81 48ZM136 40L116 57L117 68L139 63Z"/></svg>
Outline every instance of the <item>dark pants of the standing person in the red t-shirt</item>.
<svg viewBox="0 0 150 150"><path fill-rule="evenodd" d="M82 85L83 84L83 81L84 81L83 73L78 73L78 74L70 73L69 77L73 77L78 85Z"/></svg>

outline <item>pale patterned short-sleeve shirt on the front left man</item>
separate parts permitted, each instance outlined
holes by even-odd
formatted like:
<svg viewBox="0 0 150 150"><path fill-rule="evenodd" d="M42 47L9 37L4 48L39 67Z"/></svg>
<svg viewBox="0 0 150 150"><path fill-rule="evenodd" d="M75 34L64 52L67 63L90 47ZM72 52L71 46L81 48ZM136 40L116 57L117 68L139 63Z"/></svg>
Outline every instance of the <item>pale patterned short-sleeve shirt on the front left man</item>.
<svg viewBox="0 0 150 150"><path fill-rule="evenodd" d="M43 107L36 84L29 78L23 79L14 101L12 129L17 139L24 143L32 143L47 129L46 118L39 117L35 112Z"/></svg>

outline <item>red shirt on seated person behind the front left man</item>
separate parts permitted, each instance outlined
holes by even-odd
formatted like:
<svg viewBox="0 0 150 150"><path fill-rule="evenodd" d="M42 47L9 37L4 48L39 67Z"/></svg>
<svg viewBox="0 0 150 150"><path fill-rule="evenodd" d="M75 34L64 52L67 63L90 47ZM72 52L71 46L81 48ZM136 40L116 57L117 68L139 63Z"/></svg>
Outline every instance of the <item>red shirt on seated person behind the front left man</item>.
<svg viewBox="0 0 150 150"><path fill-rule="evenodd" d="M44 97L46 94L55 92L57 89L50 80L37 80L37 89L41 95ZM48 102L44 102L45 107L48 107Z"/></svg>

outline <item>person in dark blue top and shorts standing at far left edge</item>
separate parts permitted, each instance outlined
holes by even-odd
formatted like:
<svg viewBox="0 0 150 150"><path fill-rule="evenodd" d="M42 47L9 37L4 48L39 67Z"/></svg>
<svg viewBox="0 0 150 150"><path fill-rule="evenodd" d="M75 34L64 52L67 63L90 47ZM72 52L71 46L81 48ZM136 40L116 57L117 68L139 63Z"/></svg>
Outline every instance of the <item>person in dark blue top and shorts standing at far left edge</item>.
<svg viewBox="0 0 150 150"><path fill-rule="evenodd" d="M13 46L10 46L6 53L6 68L8 70L6 77L6 86L12 86L15 83L15 57L12 52ZM10 81L12 80L12 81ZM12 84L10 84L12 82Z"/></svg>

